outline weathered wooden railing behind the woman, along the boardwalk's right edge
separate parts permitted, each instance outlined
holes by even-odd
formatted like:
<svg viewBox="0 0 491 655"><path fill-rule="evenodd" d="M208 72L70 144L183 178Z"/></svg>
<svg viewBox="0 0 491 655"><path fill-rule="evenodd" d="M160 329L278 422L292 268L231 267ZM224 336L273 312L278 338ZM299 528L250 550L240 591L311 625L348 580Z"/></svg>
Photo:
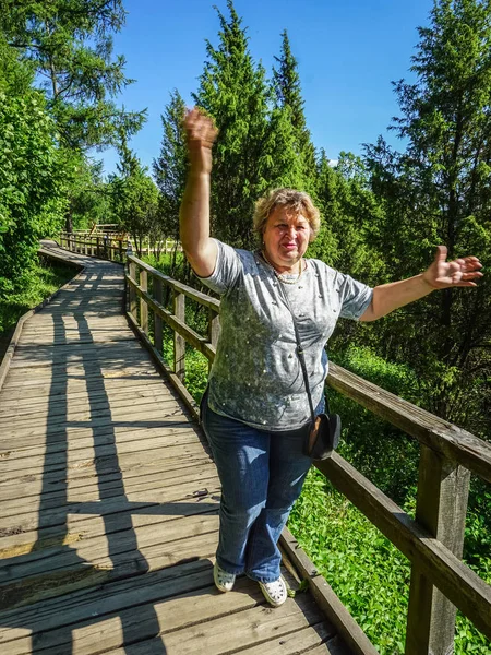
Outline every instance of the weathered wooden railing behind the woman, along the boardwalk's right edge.
<svg viewBox="0 0 491 655"><path fill-rule="evenodd" d="M183 385L184 346L185 342L191 344L209 364L213 361L219 333L219 301L132 255L128 258L125 281L131 324L197 417L197 407ZM163 302L165 288L171 294L171 311ZM187 325L187 298L206 308L206 334ZM148 330L149 312L153 334ZM173 332L170 365L163 356L164 323ZM491 445L334 364L330 366L327 383L417 439L421 446L416 520L337 453L315 464L411 561L406 655L452 653L456 608L491 639L491 586L462 562L470 473L491 481ZM300 568L304 569L314 595L319 595L316 577L308 574L307 564L300 562ZM354 653L375 652L367 641L348 634L346 621L338 616L337 619Z"/></svg>

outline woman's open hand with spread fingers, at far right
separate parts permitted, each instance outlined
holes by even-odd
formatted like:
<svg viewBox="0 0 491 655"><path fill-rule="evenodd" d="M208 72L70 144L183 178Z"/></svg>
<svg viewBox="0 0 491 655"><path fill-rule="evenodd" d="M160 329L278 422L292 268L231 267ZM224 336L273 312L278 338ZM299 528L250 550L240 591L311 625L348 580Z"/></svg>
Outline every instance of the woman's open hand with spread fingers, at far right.
<svg viewBox="0 0 491 655"><path fill-rule="evenodd" d="M438 246L433 263L422 274L423 279L434 289L446 289L453 286L477 286L475 279L482 277L479 269L481 262L477 257L463 257L453 262L446 261L446 247Z"/></svg>

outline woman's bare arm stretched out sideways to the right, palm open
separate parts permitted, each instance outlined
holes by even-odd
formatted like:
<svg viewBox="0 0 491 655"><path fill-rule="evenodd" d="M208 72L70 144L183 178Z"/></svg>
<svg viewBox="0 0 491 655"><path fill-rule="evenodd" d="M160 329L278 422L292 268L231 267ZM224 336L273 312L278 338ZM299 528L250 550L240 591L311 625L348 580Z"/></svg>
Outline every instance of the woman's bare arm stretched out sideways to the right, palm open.
<svg viewBox="0 0 491 655"><path fill-rule="evenodd" d="M424 273L409 279L376 286L373 289L372 301L360 321L375 321L435 289L477 286L474 281L482 277L482 273L479 272L482 264L478 258L465 257L447 262L446 252L445 246L439 246L432 264Z"/></svg>

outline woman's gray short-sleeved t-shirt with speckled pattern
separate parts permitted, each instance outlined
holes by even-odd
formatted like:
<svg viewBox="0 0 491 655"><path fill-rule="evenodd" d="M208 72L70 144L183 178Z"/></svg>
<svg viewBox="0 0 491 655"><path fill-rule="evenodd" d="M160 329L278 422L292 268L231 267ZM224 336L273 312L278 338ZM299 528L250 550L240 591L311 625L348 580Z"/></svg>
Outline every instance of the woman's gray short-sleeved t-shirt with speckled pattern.
<svg viewBox="0 0 491 655"><path fill-rule="evenodd" d="M263 430L297 429L310 417L309 400L279 285L297 320L314 407L327 376L325 343L339 317L358 320L363 314L372 289L315 259L306 260L296 284L283 284L259 252L216 243L215 271L201 278L223 296L209 407Z"/></svg>

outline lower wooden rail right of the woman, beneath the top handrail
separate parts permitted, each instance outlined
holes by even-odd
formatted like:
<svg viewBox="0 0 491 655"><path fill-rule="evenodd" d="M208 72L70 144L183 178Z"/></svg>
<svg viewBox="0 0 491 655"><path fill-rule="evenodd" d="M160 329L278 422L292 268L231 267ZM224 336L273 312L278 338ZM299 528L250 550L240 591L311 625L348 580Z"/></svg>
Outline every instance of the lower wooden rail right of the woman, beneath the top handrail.
<svg viewBox="0 0 491 655"><path fill-rule="evenodd" d="M315 466L371 521L424 575L491 638L491 586L458 560L438 539L412 521L337 453Z"/></svg>

